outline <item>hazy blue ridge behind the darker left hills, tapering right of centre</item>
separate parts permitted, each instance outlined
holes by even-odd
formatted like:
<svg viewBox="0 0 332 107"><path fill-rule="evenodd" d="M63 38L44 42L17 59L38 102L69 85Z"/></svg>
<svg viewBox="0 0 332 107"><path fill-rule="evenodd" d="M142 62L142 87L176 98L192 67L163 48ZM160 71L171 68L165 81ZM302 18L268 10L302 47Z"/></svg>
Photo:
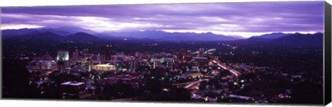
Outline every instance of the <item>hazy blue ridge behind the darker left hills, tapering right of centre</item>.
<svg viewBox="0 0 332 107"><path fill-rule="evenodd" d="M53 32L56 35L68 36L77 32L84 32L102 39L145 39L155 41L232 41L243 39L241 37L231 37L225 35L215 35L212 32L194 33L194 32L164 32L158 30L133 31L133 32L103 32L98 33L83 28L35 28L35 29L19 29L19 30L1 30L4 36L24 36L35 35L42 32Z"/></svg>

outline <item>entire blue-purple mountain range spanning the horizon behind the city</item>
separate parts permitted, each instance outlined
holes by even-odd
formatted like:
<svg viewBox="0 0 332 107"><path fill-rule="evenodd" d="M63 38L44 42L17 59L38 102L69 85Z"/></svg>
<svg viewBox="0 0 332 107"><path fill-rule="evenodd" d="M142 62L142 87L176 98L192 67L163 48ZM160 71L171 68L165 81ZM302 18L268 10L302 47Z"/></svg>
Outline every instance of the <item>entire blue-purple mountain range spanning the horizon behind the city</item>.
<svg viewBox="0 0 332 107"><path fill-rule="evenodd" d="M42 40L42 41L101 41L101 40L147 40L147 41L235 41L243 43L283 43L294 44L320 44L323 34L317 32L311 34L285 34L273 32L270 34L253 36L248 39L215 35L212 32L163 32L156 30L133 32L94 32L84 28L35 28L19 30L1 30L2 36L11 39Z"/></svg>

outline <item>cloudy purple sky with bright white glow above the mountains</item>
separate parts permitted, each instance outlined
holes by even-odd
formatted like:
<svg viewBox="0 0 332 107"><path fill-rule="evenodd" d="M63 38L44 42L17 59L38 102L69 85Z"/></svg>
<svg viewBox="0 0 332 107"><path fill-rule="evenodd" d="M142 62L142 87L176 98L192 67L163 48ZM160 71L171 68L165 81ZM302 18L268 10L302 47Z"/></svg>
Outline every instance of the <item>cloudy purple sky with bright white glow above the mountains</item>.
<svg viewBox="0 0 332 107"><path fill-rule="evenodd" d="M1 30L80 27L97 32L163 30L250 37L323 32L324 1L1 8Z"/></svg>

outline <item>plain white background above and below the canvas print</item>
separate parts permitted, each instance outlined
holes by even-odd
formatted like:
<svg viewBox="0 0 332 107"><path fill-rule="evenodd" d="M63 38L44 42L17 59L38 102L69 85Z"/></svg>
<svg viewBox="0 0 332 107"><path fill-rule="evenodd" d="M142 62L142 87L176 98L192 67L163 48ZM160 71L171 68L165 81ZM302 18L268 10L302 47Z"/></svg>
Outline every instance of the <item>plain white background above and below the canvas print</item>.
<svg viewBox="0 0 332 107"><path fill-rule="evenodd" d="M1 0L1 7L8 6L72 6L72 5L102 5L102 4L140 4L140 3L214 3L214 2L252 2L252 1L313 1L313 0ZM317 1L317 0L316 0ZM318 0L320 1L320 0ZM332 4L332 1L327 1ZM190 107L220 107L220 106L261 106L261 105L226 105L226 104L161 104L161 103L114 103L114 102L99 102L99 101L33 101L33 100L0 100L1 106L89 106L89 107L103 107L103 106L131 106L131 107L175 107L175 106L190 106ZM329 104L332 107L332 104ZM287 107L287 106L285 106ZM290 106L292 107L292 106ZM295 106L293 106L295 107Z"/></svg>

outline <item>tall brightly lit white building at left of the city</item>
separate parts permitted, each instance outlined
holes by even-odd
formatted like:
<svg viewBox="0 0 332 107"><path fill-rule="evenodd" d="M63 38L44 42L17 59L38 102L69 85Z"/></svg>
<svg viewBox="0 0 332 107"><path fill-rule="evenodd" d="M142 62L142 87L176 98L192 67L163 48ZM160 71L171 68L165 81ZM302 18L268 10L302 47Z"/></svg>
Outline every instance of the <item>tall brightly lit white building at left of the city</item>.
<svg viewBox="0 0 332 107"><path fill-rule="evenodd" d="M57 67L58 70L66 70L70 67L69 52L64 50L57 51Z"/></svg>

